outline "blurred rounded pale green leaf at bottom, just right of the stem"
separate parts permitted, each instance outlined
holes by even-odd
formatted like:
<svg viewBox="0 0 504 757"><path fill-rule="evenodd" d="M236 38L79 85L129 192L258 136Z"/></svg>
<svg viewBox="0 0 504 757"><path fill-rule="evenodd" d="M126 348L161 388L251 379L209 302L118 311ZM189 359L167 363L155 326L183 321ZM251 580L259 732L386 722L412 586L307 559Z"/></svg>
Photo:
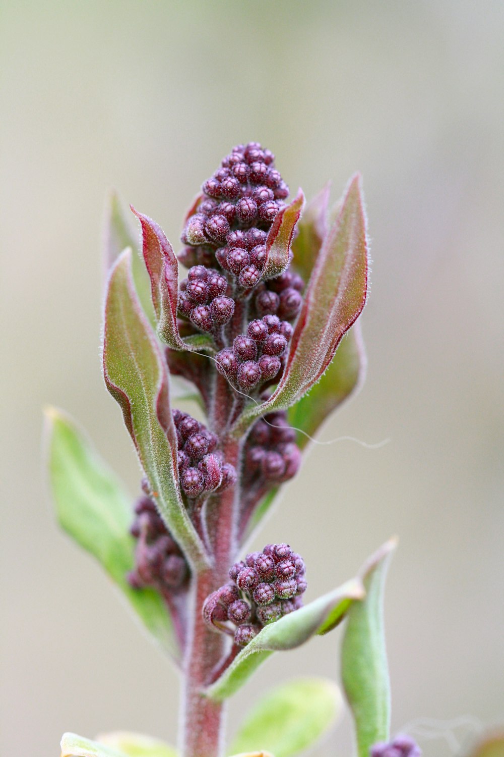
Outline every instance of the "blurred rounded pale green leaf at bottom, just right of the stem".
<svg viewBox="0 0 504 757"><path fill-rule="evenodd" d="M339 688L325 678L298 678L265 694L240 727L232 752L267 749L291 757L313 746L342 706Z"/></svg>

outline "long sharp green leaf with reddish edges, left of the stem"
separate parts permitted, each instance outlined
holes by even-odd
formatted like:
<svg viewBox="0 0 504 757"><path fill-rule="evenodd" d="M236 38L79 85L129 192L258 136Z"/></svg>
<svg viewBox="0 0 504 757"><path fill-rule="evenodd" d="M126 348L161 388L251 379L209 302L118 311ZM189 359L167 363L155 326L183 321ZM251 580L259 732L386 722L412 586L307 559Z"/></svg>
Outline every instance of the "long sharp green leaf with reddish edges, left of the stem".
<svg viewBox="0 0 504 757"><path fill-rule="evenodd" d="M122 408L159 514L193 567L206 566L203 543L181 500L166 364L138 303L130 251L110 273L103 362L105 383Z"/></svg>

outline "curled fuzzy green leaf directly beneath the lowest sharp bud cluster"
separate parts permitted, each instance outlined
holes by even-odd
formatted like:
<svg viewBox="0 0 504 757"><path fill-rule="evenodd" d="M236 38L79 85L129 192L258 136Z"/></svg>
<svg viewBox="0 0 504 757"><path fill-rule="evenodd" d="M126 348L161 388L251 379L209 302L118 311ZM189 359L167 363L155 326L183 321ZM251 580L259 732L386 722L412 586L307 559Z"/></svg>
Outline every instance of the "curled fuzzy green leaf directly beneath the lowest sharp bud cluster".
<svg viewBox="0 0 504 757"><path fill-rule="evenodd" d="M221 701L235 693L272 653L292 650L317 634L325 634L345 617L348 608L364 596L360 581L352 579L314 602L284 615L262 628L235 657L229 668L206 689L206 695Z"/></svg>

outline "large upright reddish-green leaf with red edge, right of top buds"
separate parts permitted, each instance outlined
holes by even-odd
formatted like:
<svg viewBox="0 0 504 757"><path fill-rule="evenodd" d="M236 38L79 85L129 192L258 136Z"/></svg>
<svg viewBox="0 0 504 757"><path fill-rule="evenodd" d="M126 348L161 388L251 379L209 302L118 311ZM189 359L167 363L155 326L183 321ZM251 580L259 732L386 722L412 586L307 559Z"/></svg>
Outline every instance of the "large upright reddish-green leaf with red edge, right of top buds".
<svg viewBox="0 0 504 757"><path fill-rule="evenodd" d="M290 407L317 383L364 307L367 272L366 218L360 177L354 176L314 264L282 378L269 399L244 410L234 435L264 413Z"/></svg>

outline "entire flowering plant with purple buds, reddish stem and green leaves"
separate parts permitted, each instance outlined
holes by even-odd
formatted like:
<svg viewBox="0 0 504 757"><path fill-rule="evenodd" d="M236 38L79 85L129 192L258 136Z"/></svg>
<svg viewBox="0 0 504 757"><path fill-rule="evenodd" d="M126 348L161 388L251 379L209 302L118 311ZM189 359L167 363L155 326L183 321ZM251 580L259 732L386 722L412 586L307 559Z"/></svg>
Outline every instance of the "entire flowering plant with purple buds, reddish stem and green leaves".
<svg viewBox="0 0 504 757"><path fill-rule="evenodd" d="M346 618L342 683L359 757L369 749L416 757L415 743L389 734L382 590L394 541L357 578L307 604L305 563L288 544L243 554L312 435L363 375L356 321L369 260L360 178L330 212L328 187L306 208L301 190L288 198L274 155L238 145L193 201L178 257L158 224L131 207L139 256L113 198L104 379L138 453L142 494L133 515L122 485L54 409L51 488L60 524L181 668L180 755L223 754L227 699L272 653ZM175 397L193 399L205 422L177 410ZM226 753L297 754L339 709L331 681L292 681L264 696ZM62 753L175 750L125 732L97 742L65 734Z"/></svg>

